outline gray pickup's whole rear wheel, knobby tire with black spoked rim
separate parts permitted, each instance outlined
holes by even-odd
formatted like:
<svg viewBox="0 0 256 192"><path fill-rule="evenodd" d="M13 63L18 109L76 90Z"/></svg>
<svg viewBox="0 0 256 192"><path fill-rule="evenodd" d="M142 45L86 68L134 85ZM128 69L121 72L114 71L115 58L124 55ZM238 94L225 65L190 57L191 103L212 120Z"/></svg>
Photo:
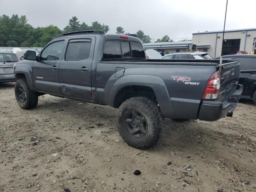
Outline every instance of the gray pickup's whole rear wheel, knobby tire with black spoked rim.
<svg viewBox="0 0 256 192"><path fill-rule="evenodd" d="M126 143L138 149L147 149L162 137L164 118L152 100L134 97L119 107L118 125L118 131Z"/></svg>

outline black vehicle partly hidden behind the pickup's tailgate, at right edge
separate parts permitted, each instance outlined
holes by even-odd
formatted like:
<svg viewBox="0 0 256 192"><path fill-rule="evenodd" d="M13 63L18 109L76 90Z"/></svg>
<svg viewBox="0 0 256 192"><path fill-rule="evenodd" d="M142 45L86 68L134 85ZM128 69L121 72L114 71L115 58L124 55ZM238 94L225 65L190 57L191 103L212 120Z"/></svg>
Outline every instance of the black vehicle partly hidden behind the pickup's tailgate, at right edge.
<svg viewBox="0 0 256 192"><path fill-rule="evenodd" d="M222 56L225 60L237 60L240 63L239 84L244 86L241 98L252 99L256 105L256 55L236 54Z"/></svg>

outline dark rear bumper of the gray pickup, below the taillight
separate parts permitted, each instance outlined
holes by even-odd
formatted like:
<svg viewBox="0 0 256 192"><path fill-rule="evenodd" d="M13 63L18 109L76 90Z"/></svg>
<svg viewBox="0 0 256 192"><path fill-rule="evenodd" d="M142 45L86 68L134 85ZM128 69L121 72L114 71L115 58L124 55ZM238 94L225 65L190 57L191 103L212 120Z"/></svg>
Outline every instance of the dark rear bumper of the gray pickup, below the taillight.
<svg viewBox="0 0 256 192"><path fill-rule="evenodd" d="M232 116L233 110L242 94L243 86L237 84L236 90L225 101L203 100L198 119L204 121L216 121L226 116Z"/></svg>

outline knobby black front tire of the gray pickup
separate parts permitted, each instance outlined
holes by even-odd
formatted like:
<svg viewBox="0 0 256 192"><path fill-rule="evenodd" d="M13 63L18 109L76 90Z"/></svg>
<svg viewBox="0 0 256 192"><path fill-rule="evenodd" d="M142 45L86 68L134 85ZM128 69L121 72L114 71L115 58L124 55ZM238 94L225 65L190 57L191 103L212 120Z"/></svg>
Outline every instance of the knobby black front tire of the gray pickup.
<svg viewBox="0 0 256 192"><path fill-rule="evenodd" d="M20 99L19 89L24 90L24 96L26 99L23 102ZM16 81L15 87L14 87L14 93L15 93L16 100L22 109L32 109L36 107L38 103L38 94L35 92L32 92L32 90L28 86L28 82L26 78L21 78Z"/></svg>

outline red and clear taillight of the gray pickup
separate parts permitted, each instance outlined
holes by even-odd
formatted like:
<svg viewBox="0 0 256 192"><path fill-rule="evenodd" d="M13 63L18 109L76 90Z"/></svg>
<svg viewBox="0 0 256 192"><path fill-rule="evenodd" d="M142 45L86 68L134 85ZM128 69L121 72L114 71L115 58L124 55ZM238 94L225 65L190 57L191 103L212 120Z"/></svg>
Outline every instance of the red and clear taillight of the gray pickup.
<svg viewBox="0 0 256 192"><path fill-rule="evenodd" d="M212 74L207 82L202 99L216 99L220 90L220 72Z"/></svg>

